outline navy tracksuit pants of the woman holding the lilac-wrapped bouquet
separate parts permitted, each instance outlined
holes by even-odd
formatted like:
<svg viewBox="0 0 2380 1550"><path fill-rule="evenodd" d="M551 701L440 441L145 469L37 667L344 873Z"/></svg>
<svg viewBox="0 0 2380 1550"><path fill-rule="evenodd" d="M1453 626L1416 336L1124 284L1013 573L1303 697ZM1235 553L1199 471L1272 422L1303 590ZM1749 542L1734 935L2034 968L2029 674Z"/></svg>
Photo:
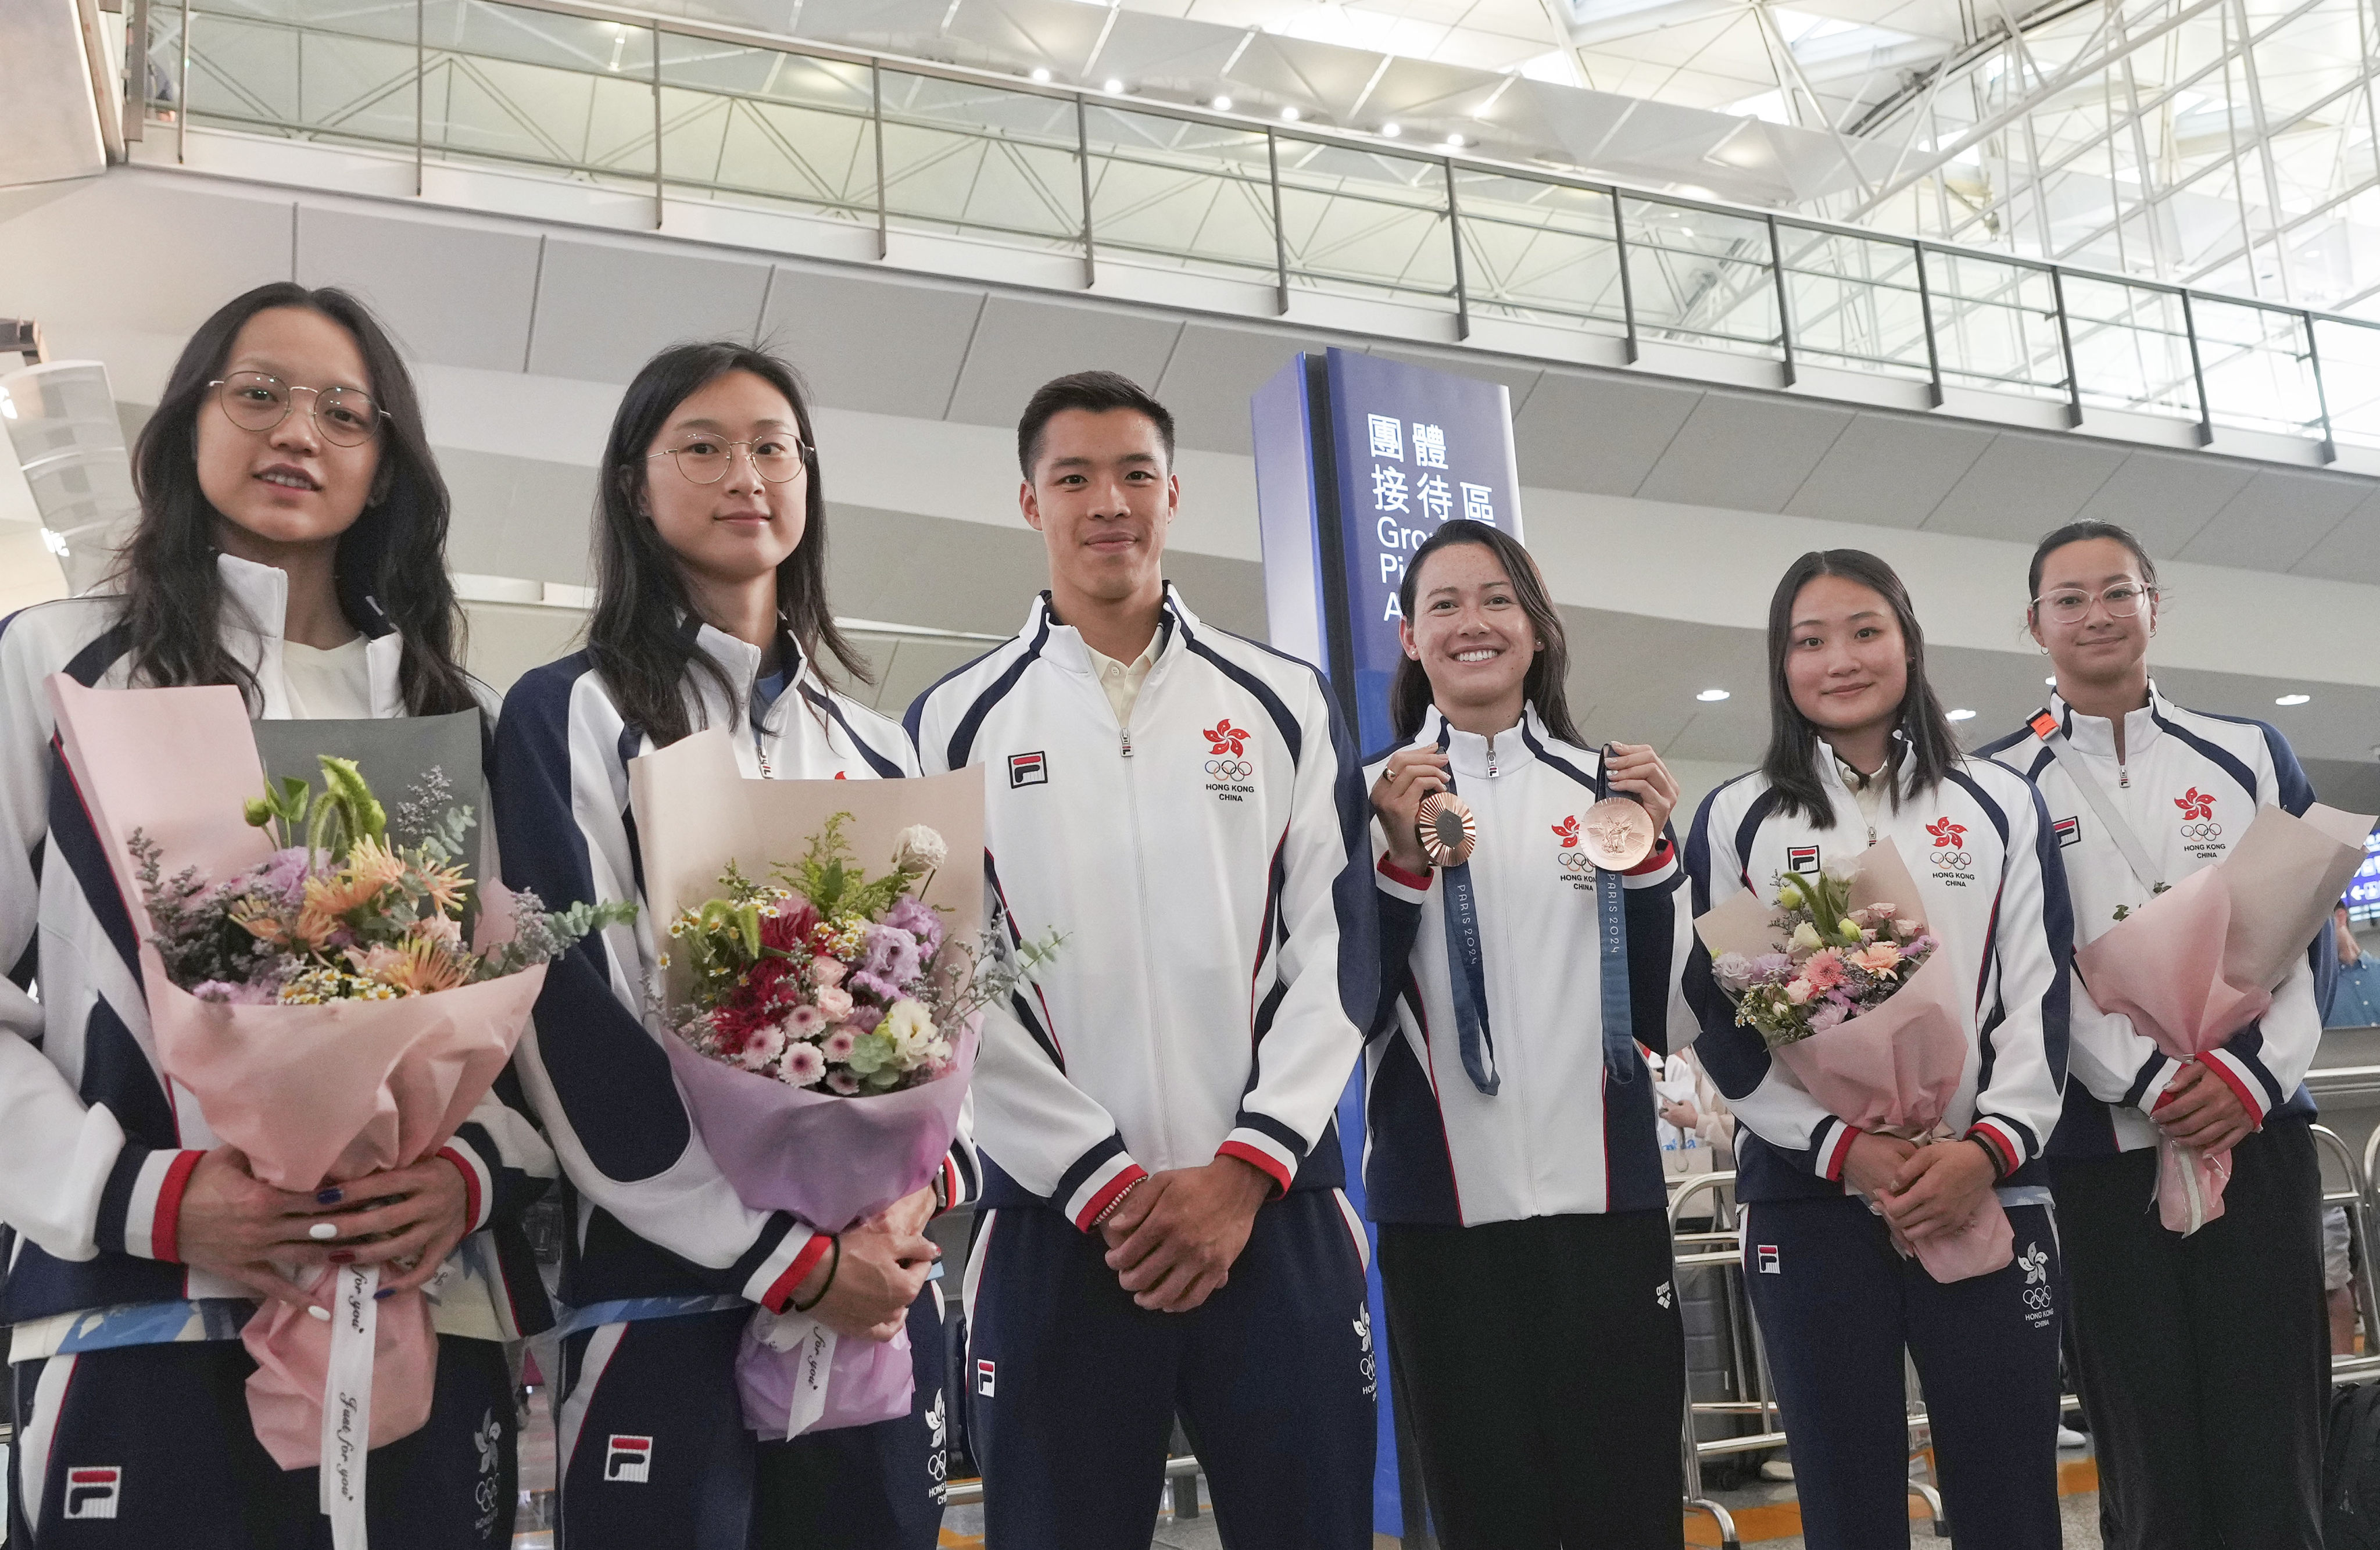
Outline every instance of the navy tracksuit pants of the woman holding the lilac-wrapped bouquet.
<svg viewBox="0 0 2380 1550"><path fill-rule="evenodd" d="M571 1550L928 1550L942 1524L942 1314L909 1305L909 1414L790 1443L745 1426L750 1310L583 1329L555 1424Z"/></svg>

